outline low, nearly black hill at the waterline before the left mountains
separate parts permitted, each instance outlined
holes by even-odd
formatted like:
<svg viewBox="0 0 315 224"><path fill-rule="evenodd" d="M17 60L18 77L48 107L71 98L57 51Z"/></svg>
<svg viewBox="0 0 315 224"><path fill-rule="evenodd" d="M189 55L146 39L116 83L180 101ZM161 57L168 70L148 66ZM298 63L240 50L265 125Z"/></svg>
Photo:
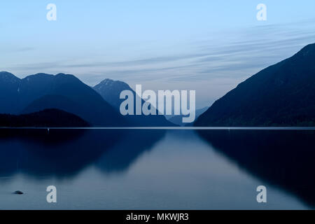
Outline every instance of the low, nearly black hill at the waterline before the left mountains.
<svg viewBox="0 0 315 224"><path fill-rule="evenodd" d="M0 114L0 127L88 127L82 118L60 111L47 109L23 115Z"/></svg>

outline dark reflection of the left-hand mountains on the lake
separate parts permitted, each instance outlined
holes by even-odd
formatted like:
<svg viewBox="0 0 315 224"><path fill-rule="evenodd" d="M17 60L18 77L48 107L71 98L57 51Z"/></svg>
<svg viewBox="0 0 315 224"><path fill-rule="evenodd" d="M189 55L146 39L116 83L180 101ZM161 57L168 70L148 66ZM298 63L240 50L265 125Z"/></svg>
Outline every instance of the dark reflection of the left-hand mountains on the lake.
<svg viewBox="0 0 315 224"><path fill-rule="evenodd" d="M97 162L106 172L127 169L165 132L139 130L1 130L0 174L69 177ZM127 150L125 150L127 148Z"/></svg>

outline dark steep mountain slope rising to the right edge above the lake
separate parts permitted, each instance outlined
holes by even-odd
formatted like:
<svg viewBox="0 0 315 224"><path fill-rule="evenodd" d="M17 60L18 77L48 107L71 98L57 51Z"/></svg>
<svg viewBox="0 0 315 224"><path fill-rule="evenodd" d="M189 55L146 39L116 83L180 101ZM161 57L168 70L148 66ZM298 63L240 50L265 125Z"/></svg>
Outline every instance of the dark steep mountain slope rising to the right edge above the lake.
<svg viewBox="0 0 315 224"><path fill-rule="evenodd" d="M315 126L315 43L237 85L195 126Z"/></svg>

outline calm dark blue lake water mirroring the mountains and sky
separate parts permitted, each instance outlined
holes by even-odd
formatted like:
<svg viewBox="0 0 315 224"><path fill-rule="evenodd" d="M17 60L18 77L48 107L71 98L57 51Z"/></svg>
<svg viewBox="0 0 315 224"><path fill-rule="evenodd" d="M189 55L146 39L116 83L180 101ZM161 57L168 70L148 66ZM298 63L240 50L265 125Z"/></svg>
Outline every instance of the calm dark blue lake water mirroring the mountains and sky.
<svg viewBox="0 0 315 224"><path fill-rule="evenodd" d="M312 209L314 137L311 130L0 130L0 209ZM46 202L51 185L57 204ZM256 202L261 185L267 204Z"/></svg>

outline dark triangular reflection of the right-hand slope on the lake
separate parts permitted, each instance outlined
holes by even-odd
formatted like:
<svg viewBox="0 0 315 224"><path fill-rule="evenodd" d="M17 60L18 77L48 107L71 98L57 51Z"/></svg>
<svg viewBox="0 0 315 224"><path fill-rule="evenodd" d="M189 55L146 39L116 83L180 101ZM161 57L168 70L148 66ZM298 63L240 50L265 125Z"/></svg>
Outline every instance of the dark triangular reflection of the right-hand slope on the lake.
<svg viewBox="0 0 315 224"><path fill-rule="evenodd" d="M200 131L200 135L253 176L315 206L315 131Z"/></svg>

